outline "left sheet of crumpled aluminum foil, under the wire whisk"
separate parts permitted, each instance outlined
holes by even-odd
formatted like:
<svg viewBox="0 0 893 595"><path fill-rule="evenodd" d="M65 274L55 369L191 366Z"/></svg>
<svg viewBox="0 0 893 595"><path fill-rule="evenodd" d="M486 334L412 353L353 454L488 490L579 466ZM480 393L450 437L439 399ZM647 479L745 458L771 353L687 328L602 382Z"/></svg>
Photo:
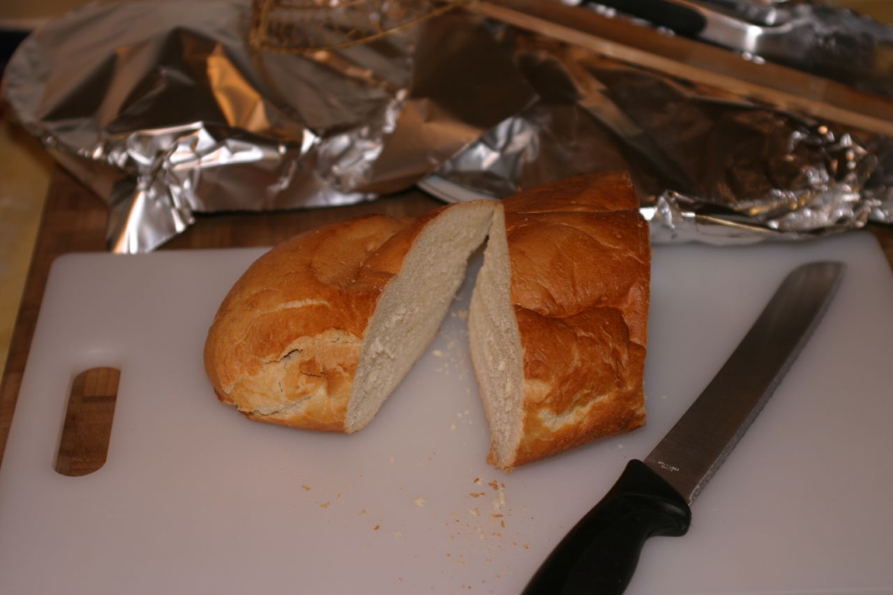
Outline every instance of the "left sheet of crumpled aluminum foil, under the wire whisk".
<svg viewBox="0 0 893 595"><path fill-rule="evenodd" d="M152 250L195 213L406 189L535 98L469 13L301 55L252 49L249 13L244 0L91 4L13 55L5 100L109 203L114 251Z"/></svg>

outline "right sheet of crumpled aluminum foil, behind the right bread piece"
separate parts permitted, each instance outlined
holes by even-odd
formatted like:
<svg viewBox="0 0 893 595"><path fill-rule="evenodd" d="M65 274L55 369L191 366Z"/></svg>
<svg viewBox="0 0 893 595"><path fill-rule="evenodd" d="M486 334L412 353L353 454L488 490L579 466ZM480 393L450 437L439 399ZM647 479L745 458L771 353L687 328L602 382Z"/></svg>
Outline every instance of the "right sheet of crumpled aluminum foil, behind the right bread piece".
<svg viewBox="0 0 893 595"><path fill-rule="evenodd" d="M658 242L800 239L893 222L889 139L554 39L509 28L498 37L539 100L438 170L466 192L500 197L547 180L628 169Z"/></svg>

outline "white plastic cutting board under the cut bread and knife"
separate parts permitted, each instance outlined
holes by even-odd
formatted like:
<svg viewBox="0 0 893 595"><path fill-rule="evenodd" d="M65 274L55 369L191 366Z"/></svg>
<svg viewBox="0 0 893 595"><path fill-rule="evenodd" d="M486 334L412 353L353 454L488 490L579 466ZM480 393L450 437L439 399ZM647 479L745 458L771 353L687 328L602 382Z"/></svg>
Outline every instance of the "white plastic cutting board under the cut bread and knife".
<svg viewBox="0 0 893 595"><path fill-rule="evenodd" d="M0 593L515 593L645 457L786 272L847 263L797 364L632 595L893 593L893 275L872 237L655 249L649 423L505 474L467 356L471 283L355 435L250 422L204 377L204 333L261 252L54 264L0 467ZM474 267L472 267L474 268ZM472 275L469 276L472 279ZM73 377L121 368L108 462L54 473Z"/></svg>

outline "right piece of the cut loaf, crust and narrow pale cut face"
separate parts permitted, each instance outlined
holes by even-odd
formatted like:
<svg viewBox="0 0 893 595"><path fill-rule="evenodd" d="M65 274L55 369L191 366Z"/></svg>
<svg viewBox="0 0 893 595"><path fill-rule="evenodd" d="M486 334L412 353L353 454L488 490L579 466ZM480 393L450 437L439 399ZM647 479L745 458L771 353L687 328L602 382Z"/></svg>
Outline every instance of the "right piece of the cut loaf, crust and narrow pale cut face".
<svg viewBox="0 0 893 595"><path fill-rule="evenodd" d="M529 463L645 423L650 250L623 174L503 201L472 293L488 461Z"/></svg>

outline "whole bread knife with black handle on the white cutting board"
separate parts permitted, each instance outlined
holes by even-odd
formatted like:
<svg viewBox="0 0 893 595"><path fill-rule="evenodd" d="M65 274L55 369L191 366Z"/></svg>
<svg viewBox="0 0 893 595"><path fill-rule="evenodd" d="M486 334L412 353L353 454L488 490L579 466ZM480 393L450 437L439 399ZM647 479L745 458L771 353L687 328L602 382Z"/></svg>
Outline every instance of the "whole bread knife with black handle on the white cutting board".
<svg viewBox="0 0 893 595"><path fill-rule="evenodd" d="M803 264L781 282L714 379L644 461L585 515L530 579L523 595L619 595L645 541L689 530L691 509L797 359L846 266Z"/></svg>

